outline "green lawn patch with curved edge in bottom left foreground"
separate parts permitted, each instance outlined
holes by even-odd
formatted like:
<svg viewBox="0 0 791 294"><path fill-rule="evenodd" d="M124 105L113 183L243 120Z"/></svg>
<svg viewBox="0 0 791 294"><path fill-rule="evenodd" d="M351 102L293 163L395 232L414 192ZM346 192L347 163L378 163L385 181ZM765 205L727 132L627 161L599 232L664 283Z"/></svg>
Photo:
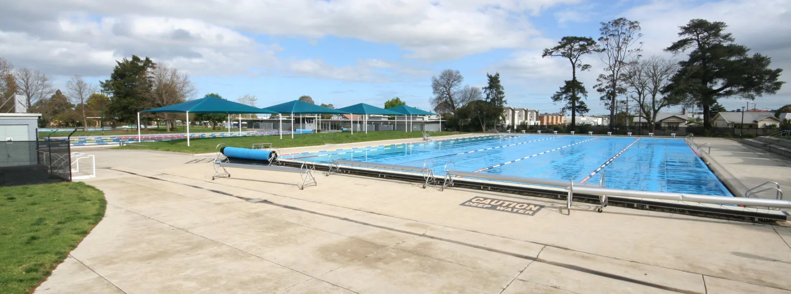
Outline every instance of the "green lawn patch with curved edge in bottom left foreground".
<svg viewBox="0 0 791 294"><path fill-rule="evenodd" d="M26 293L104 217L104 194L84 183L0 188L0 293Z"/></svg>

